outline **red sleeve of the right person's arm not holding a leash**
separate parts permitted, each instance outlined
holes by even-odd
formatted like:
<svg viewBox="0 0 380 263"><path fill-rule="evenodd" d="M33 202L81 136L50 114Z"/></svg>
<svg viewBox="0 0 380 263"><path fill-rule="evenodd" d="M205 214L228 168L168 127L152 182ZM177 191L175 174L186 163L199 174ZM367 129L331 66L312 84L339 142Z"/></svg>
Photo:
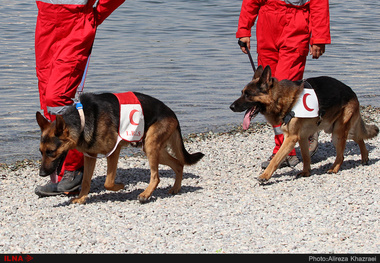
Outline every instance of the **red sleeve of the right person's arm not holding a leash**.
<svg viewBox="0 0 380 263"><path fill-rule="evenodd" d="M331 43L328 0L310 1L310 30L310 45Z"/></svg>

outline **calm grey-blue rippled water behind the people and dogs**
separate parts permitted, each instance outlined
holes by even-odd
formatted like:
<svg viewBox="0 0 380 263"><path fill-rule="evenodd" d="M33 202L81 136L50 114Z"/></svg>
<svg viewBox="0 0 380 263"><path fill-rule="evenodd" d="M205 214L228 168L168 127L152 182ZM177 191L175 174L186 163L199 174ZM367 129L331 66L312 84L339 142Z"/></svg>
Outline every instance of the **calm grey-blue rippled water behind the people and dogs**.
<svg viewBox="0 0 380 263"><path fill-rule="evenodd" d="M321 59L308 60L305 77L338 78L361 104L380 106L380 2L367 2L330 1L332 45ZM37 8L34 1L0 5L0 162L37 159ZM176 112L184 134L241 123L243 114L229 110L252 77L235 39L240 6L236 0L127 0L99 27L85 91L157 97Z"/></svg>

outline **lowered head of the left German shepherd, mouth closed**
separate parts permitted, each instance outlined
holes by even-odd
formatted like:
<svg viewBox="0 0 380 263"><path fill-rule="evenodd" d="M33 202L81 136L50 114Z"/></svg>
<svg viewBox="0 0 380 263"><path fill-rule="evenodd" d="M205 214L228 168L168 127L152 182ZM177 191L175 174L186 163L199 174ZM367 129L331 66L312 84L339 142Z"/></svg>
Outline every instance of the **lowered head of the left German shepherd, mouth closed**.
<svg viewBox="0 0 380 263"><path fill-rule="evenodd" d="M54 122L36 113L37 123L41 128L40 152L42 155L40 176L50 175L53 182L60 172L67 152L73 148L69 129L62 116L57 115Z"/></svg>

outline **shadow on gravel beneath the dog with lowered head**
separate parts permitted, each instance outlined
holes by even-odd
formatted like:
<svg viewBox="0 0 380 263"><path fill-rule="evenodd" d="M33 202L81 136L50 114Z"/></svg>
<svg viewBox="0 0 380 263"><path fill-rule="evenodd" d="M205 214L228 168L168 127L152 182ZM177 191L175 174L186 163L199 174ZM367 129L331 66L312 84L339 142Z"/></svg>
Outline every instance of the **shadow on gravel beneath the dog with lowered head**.
<svg viewBox="0 0 380 263"><path fill-rule="evenodd" d="M169 194L169 189L174 184L175 173L172 170L160 170L160 178L170 178L173 181L170 186L160 187L160 184L154 190L152 196L148 202L155 202L158 198L170 198L173 195ZM183 179L186 178L199 178L199 176L192 173L183 173ZM116 183L124 184L125 188L131 188L140 183L146 183L146 186L142 186L139 189L133 189L132 191L120 190L117 192L108 191L104 188L104 182L106 175L93 177L91 180L91 188L86 204L91 203L106 203L106 202L137 202L137 196L142 193L147 187L150 181L150 170L142 168L118 168ZM162 181L162 180L161 180ZM202 187L186 186L182 183L180 192L177 195L189 192L195 192L202 189ZM69 205L71 200L68 200L60 206Z"/></svg>

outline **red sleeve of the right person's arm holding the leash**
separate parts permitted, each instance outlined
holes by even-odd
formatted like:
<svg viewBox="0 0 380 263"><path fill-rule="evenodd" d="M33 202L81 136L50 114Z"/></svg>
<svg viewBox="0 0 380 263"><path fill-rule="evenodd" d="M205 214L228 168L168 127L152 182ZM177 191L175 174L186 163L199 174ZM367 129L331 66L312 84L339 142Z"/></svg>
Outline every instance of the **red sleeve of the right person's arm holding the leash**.
<svg viewBox="0 0 380 263"><path fill-rule="evenodd" d="M243 0L236 38L250 37L251 28L259 14L263 0Z"/></svg>

